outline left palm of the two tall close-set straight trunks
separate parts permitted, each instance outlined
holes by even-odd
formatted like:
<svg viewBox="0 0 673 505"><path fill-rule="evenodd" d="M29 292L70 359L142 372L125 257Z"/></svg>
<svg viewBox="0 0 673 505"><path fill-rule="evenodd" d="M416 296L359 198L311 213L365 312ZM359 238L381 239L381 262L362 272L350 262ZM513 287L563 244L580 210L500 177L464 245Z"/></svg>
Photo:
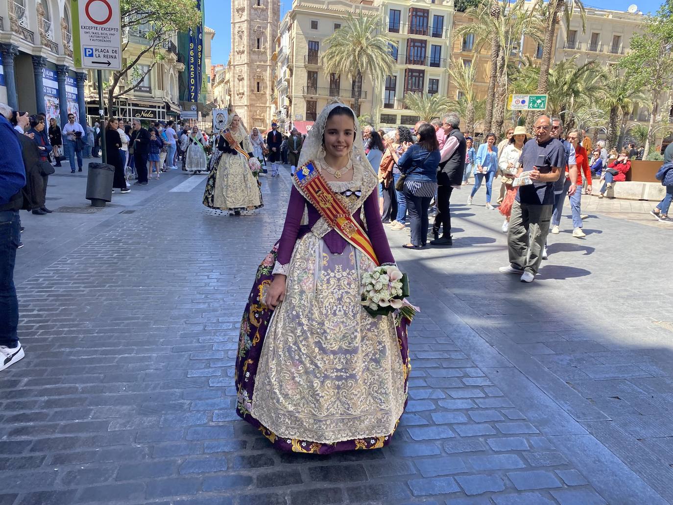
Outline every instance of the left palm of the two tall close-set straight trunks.
<svg viewBox="0 0 673 505"><path fill-rule="evenodd" d="M505 0L503 0L504 2ZM493 103L495 102L495 82L497 80L498 56L500 54L500 39L497 26L501 16L501 8L498 0L483 2L479 7L470 7L466 14L474 18L474 21L460 26L454 30L455 38L462 38L466 34L474 34L476 40L475 50L481 50L485 44L491 48L491 67L489 69L489 91L486 97L486 117L484 131L491 131L493 121Z"/></svg>

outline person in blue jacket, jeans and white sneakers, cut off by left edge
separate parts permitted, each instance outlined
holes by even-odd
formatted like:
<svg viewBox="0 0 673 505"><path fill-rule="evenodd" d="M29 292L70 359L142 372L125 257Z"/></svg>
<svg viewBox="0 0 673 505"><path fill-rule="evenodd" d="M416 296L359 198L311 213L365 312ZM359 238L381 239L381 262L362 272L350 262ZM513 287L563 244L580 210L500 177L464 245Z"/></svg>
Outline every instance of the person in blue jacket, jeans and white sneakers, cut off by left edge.
<svg viewBox="0 0 673 505"><path fill-rule="evenodd" d="M26 171L17 132L7 121L8 115L11 116L11 108L0 104L0 145L3 147L0 156L0 371L24 357L17 336L19 302L14 288L14 263L20 243L19 209L23 203L21 190L26 184Z"/></svg>

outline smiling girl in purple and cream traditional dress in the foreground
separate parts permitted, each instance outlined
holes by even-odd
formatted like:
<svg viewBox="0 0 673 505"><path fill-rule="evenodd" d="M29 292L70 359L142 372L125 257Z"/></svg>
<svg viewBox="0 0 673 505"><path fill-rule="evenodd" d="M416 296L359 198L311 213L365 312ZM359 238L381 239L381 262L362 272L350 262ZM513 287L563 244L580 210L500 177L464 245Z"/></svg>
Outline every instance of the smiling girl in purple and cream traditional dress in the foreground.
<svg viewBox="0 0 673 505"><path fill-rule="evenodd" d="M304 143L283 234L241 323L237 412L282 450L382 447L404 411L405 320L371 316L360 303L363 273L394 264L377 182L353 110L328 105ZM334 221L336 207L349 219Z"/></svg>

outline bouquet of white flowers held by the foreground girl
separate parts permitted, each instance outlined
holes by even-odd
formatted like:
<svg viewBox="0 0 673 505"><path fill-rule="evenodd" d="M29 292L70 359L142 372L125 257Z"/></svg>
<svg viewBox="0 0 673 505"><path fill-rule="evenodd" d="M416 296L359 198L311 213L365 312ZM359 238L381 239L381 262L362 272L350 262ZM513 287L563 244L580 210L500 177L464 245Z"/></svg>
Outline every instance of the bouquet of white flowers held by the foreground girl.
<svg viewBox="0 0 673 505"><path fill-rule="evenodd" d="M362 276L361 304L371 316L386 316L400 310L410 322L419 308L410 304L409 279L394 265L376 267Z"/></svg>

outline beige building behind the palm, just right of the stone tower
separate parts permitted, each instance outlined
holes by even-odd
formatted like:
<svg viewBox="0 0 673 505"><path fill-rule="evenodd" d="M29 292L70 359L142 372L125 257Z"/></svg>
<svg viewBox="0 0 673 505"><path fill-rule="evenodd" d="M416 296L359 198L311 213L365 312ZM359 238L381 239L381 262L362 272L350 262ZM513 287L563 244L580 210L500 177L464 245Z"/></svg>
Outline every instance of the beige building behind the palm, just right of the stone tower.
<svg viewBox="0 0 673 505"><path fill-rule="evenodd" d="M324 41L341 28L349 13L377 15L379 9L367 0L294 0L280 24L275 54L275 119L286 131L294 123L305 129L305 123L315 121L332 97L354 105L355 79L323 69ZM371 79L365 75L359 96L361 114L371 115L372 92Z"/></svg>

